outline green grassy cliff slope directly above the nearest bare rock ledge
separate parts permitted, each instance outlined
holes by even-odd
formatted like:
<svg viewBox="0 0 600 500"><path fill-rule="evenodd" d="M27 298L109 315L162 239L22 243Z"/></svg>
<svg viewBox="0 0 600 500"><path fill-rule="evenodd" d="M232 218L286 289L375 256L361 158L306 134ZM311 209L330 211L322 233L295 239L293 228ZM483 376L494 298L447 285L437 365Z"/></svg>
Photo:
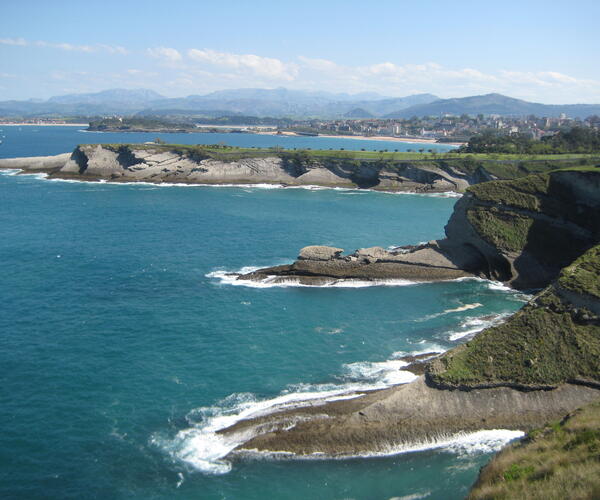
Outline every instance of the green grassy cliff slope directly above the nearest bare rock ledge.
<svg viewBox="0 0 600 500"><path fill-rule="evenodd" d="M560 288L600 306L600 245L562 271L506 323L489 328L429 366L440 387L550 388L568 381L600 383L600 317L563 298ZM596 299L596 300L594 300Z"/></svg>

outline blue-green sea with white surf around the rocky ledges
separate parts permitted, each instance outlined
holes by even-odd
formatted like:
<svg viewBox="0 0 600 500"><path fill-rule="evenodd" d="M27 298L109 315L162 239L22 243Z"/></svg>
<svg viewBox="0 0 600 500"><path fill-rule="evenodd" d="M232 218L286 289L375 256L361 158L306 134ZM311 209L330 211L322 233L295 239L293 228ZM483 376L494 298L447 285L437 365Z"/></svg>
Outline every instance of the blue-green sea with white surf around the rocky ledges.
<svg viewBox="0 0 600 500"><path fill-rule="evenodd" d="M399 149L250 134L0 126L0 157L79 143ZM375 144L372 144L375 143ZM405 383L527 299L479 279L234 282L306 245L440 238L457 197L351 189L154 186L0 171L0 497L458 499L502 429L332 459L256 455L216 431L306 399Z"/></svg>

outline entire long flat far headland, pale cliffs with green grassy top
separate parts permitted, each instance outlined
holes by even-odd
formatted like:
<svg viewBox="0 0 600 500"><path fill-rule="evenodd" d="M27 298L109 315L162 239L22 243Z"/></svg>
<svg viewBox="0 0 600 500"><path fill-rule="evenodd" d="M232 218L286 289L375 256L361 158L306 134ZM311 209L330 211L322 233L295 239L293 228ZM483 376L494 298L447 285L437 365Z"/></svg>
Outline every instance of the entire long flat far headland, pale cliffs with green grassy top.
<svg viewBox="0 0 600 500"><path fill-rule="evenodd" d="M0 168L108 182L275 184L458 192L493 179L595 165L600 153L487 154L285 150L221 145L87 144L50 157L0 160Z"/></svg>

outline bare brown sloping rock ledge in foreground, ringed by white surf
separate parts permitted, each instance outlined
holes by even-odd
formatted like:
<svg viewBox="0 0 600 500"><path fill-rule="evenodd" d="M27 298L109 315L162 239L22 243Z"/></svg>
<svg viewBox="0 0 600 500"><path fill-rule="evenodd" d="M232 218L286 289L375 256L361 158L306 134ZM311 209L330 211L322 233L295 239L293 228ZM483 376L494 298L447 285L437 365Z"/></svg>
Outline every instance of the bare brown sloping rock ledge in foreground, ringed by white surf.
<svg viewBox="0 0 600 500"><path fill-rule="evenodd" d="M554 391L444 391L423 377L355 399L313 404L243 420L220 431L249 436L232 455L248 451L355 456L390 452L459 432L528 430L600 398L597 389L564 385Z"/></svg>

